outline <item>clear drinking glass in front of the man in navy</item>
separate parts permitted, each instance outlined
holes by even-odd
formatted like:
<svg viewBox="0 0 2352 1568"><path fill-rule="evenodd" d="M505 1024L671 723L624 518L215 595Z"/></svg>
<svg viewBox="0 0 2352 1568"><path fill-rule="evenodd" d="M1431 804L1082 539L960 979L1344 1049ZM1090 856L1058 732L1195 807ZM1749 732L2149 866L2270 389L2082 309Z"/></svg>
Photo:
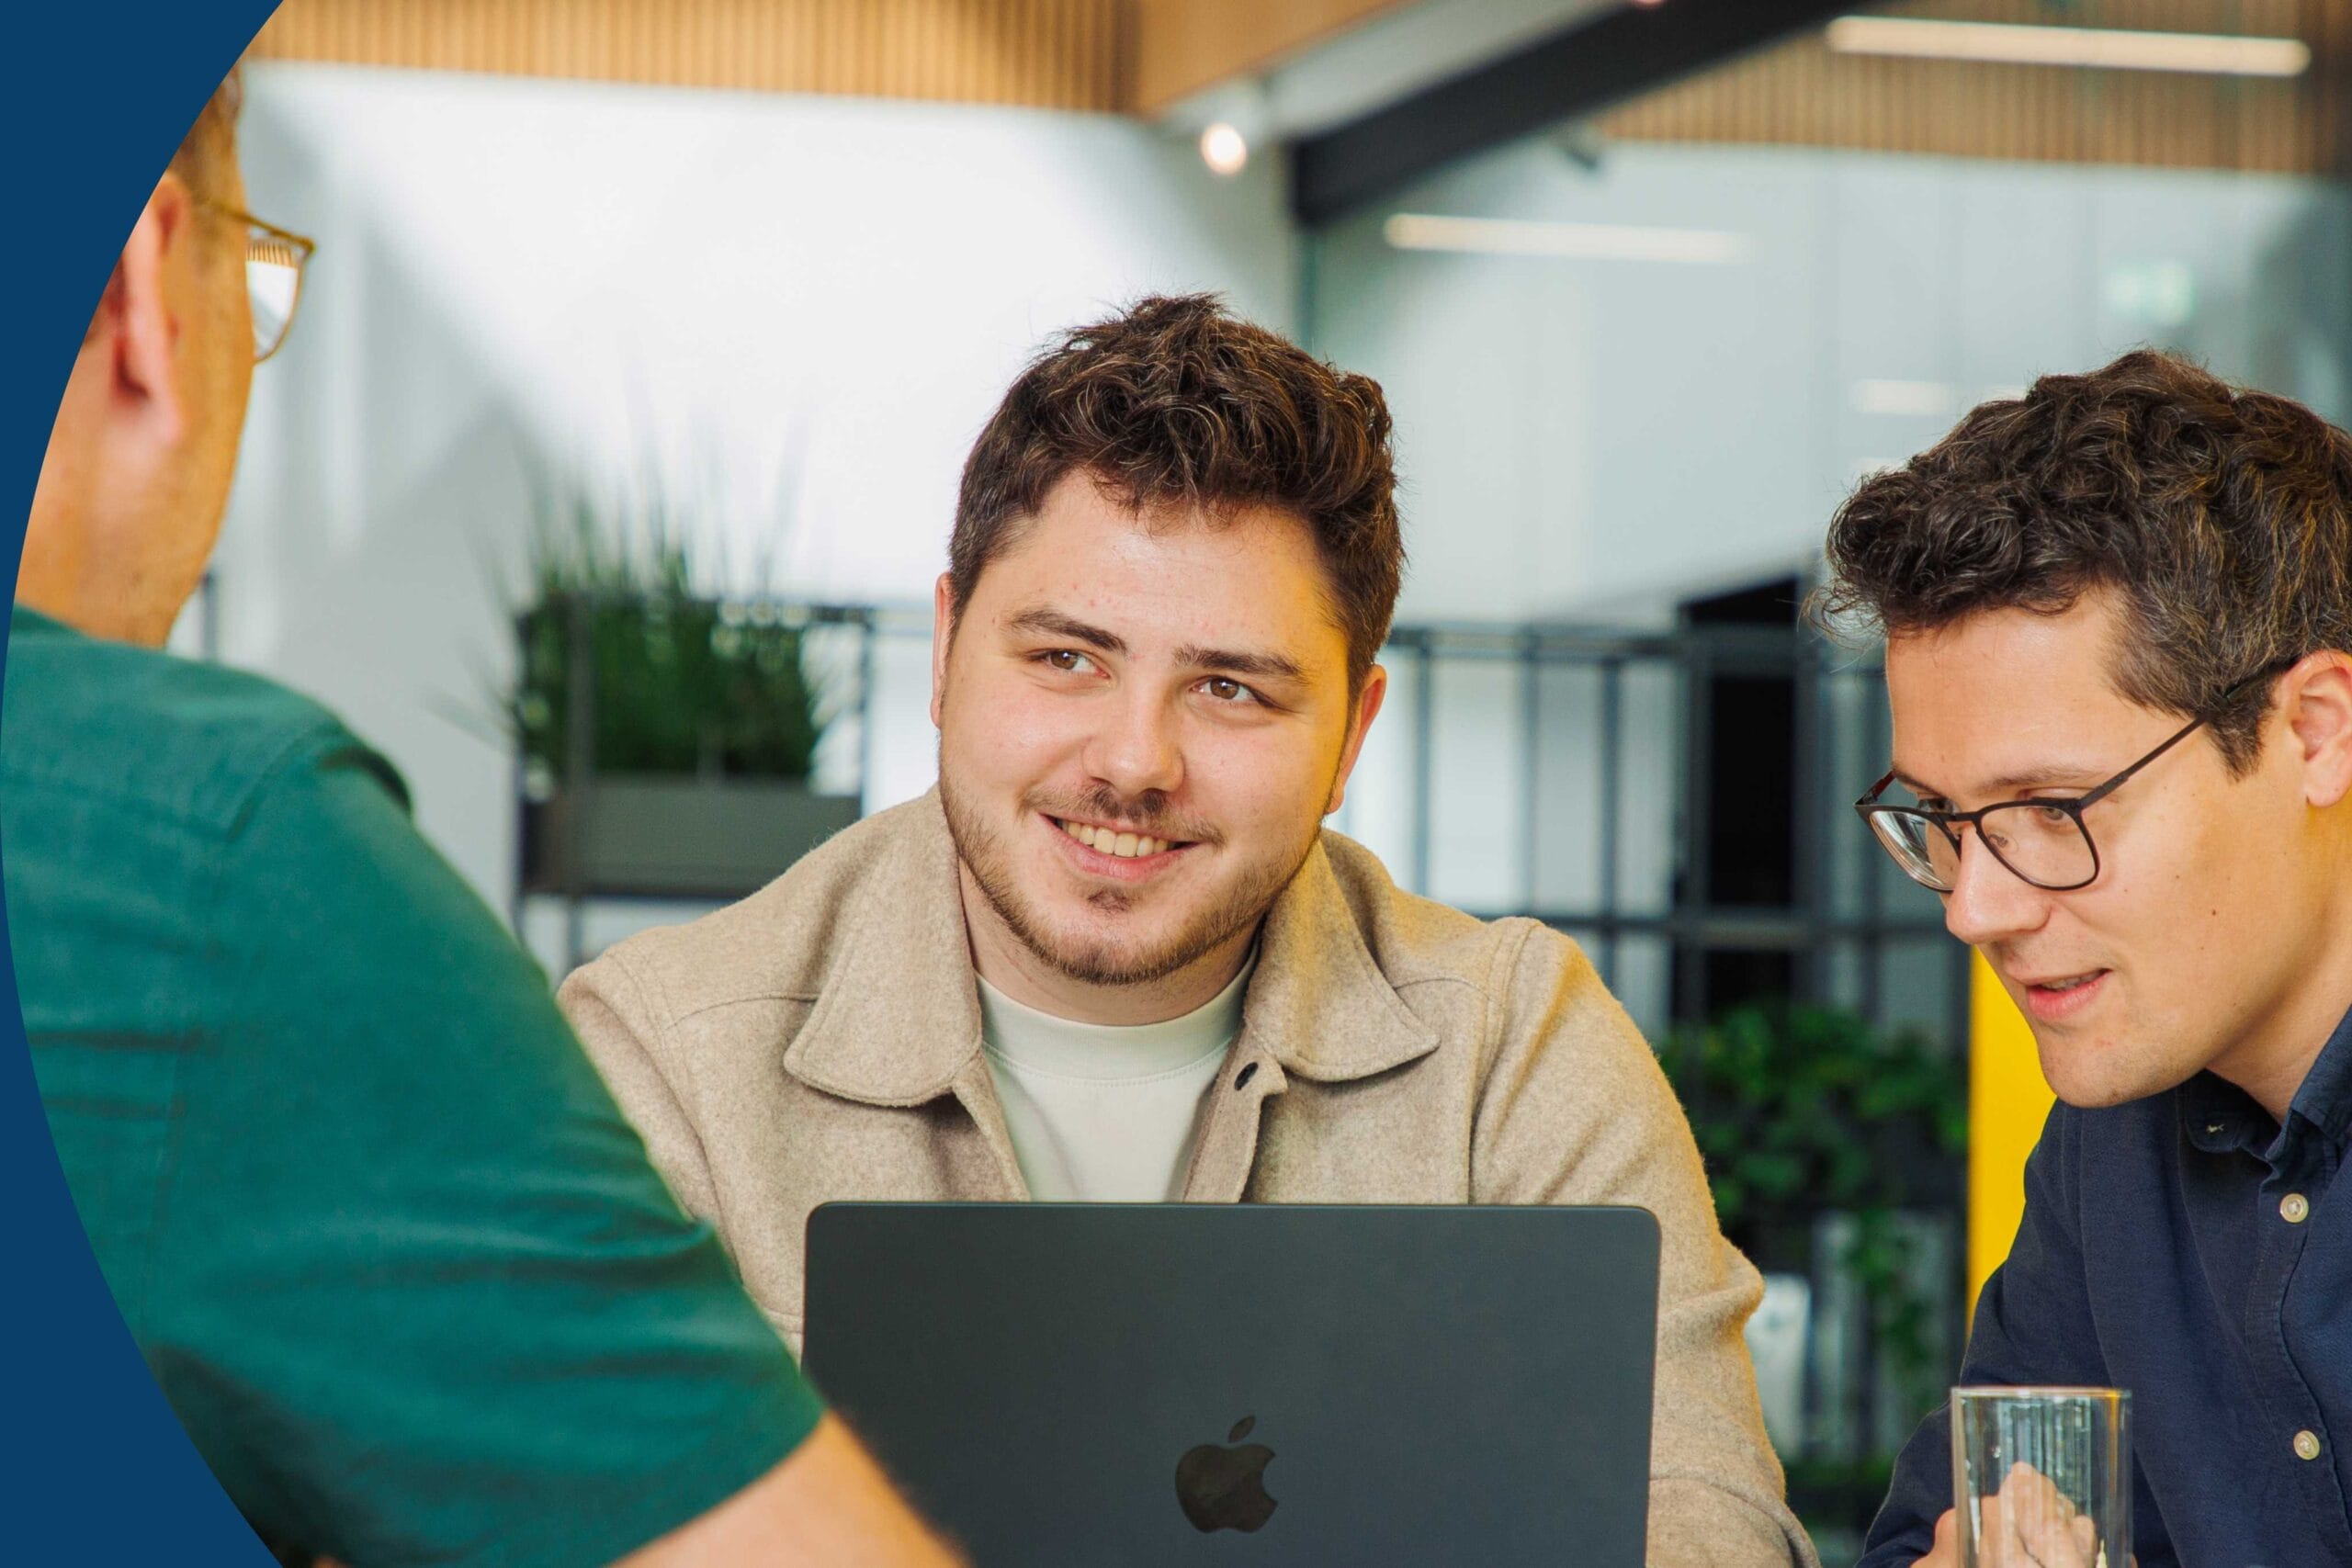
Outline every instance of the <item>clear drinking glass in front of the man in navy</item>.
<svg viewBox="0 0 2352 1568"><path fill-rule="evenodd" d="M2131 1394L1952 1389L1962 1568L2131 1563Z"/></svg>

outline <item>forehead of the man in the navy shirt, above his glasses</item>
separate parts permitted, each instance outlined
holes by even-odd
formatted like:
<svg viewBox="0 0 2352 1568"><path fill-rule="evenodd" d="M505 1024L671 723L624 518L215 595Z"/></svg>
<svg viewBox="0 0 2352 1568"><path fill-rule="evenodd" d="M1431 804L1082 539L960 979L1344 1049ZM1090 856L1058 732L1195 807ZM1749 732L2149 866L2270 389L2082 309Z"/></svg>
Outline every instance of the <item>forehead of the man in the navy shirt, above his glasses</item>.
<svg viewBox="0 0 2352 1568"><path fill-rule="evenodd" d="M2112 766L2152 722L2114 686L2105 597L2039 614L1990 609L1886 639L1893 764L1912 783L1973 795L1990 780Z"/></svg>

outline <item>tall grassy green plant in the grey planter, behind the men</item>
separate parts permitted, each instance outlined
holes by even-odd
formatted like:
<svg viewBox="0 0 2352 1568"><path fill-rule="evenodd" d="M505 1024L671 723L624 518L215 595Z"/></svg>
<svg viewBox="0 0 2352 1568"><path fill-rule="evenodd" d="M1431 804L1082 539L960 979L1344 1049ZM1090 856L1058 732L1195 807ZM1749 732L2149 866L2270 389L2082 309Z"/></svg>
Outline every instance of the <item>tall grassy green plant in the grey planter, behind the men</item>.
<svg viewBox="0 0 2352 1568"><path fill-rule="evenodd" d="M529 576L506 717L534 795L564 773L581 656L597 771L809 776L830 705L804 665L804 628L764 599L701 592L659 496L604 510L543 491Z"/></svg>

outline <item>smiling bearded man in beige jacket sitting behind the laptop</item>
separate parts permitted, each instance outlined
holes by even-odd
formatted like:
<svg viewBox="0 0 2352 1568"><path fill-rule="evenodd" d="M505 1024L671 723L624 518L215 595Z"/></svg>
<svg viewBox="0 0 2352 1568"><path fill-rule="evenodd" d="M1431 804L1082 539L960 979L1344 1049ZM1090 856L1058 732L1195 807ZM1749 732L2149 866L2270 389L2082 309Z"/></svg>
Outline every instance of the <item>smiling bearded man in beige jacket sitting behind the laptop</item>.
<svg viewBox="0 0 2352 1568"><path fill-rule="evenodd" d="M1649 1561L1811 1563L1759 1281L1642 1037L1569 938L1322 830L1385 691L1392 491L1381 390L1211 299L1070 334L964 468L938 790L564 1011L795 1342L828 1199L1649 1208Z"/></svg>

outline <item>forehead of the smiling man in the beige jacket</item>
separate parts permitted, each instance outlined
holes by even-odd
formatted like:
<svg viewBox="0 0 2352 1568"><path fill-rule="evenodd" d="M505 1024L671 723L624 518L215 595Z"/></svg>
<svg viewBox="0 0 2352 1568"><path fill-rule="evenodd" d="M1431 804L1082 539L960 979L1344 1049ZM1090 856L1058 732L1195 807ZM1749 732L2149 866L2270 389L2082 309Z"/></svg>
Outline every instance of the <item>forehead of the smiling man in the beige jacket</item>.
<svg viewBox="0 0 2352 1568"><path fill-rule="evenodd" d="M988 562L971 609L1051 607L1143 644L1155 637L1345 658L1312 529L1270 505L1223 512L1129 508L1068 475Z"/></svg>

